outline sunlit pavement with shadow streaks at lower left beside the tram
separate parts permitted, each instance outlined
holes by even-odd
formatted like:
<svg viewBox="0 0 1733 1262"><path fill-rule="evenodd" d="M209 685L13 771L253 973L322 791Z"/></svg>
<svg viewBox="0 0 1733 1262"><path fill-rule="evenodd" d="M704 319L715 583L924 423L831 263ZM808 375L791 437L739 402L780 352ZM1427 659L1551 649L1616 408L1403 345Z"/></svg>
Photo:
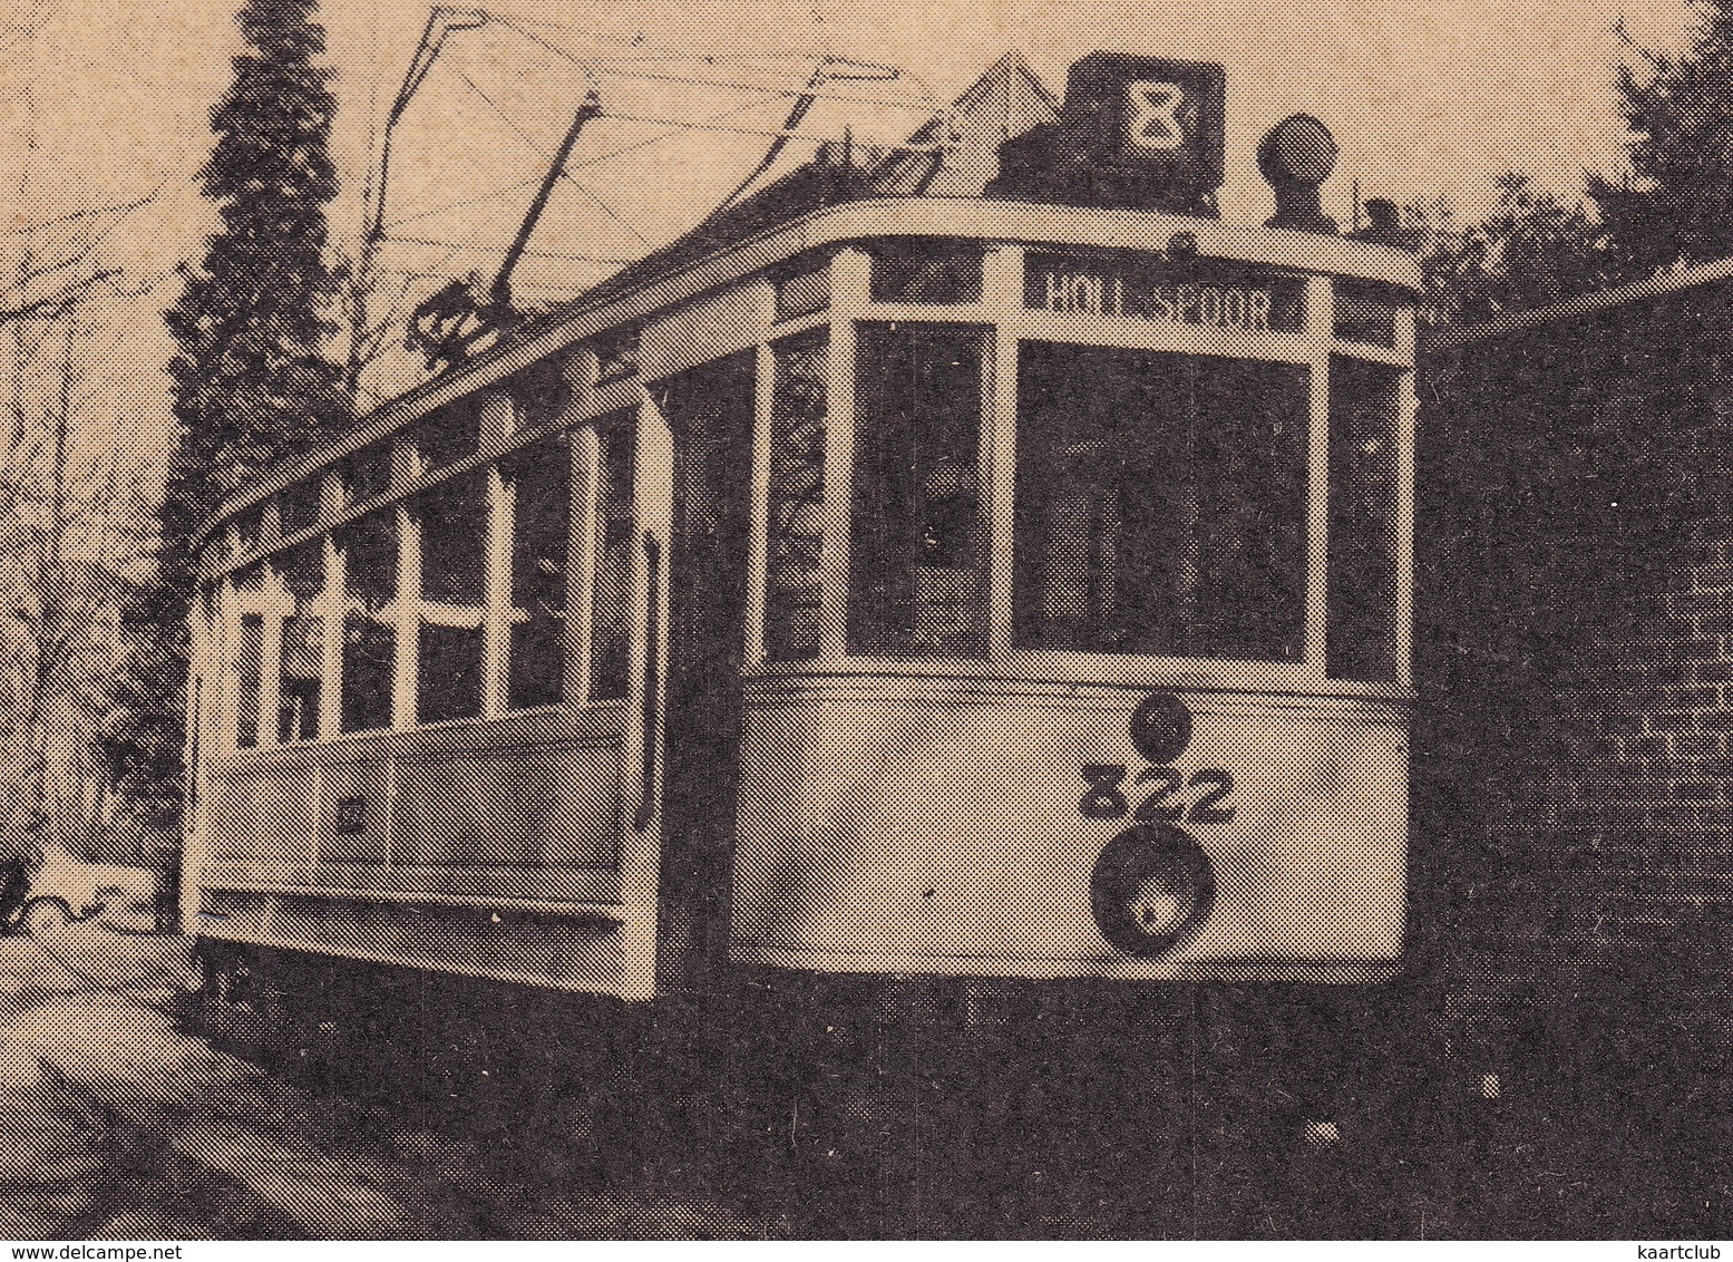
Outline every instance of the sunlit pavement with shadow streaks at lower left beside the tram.
<svg viewBox="0 0 1733 1262"><path fill-rule="evenodd" d="M503 1184L475 1142L182 1033L191 943L0 938L0 1238L761 1238L655 1189Z"/></svg>

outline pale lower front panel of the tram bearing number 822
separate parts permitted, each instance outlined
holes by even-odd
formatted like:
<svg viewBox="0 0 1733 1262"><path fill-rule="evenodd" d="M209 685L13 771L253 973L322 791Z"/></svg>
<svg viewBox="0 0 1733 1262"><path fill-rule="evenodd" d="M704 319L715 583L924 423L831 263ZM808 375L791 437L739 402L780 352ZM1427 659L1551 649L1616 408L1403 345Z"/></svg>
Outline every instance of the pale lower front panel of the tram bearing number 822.
<svg viewBox="0 0 1733 1262"><path fill-rule="evenodd" d="M1191 695L1172 766L1225 770L1229 822L1191 823L1217 907L1156 959L1113 948L1088 905L1097 855L1130 818L1090 820L1083 764L1149 766L1128 735L1142 692L750 704L735 863L742 962L990 976L1208 978L1388 971L1402 948L1407 723L1371 702ZM972 695L970 695L972 693ZM1191 806L1206 787L1185 787ZM1322 973L1319 974L1322 976Z"/></svg>

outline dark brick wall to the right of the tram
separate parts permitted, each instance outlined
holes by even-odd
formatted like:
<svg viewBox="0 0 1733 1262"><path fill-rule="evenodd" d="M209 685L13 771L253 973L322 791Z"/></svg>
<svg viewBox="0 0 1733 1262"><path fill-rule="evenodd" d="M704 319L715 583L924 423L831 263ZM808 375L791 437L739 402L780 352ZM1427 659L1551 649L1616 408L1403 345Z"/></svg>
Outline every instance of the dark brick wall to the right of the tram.
<svg viewBox="0 0 1733 1262"><path fill-rule="evenodd" d="M1506 981L1733 964L1733 383L1688 291L1433 355L1419 915Z"/></svg>

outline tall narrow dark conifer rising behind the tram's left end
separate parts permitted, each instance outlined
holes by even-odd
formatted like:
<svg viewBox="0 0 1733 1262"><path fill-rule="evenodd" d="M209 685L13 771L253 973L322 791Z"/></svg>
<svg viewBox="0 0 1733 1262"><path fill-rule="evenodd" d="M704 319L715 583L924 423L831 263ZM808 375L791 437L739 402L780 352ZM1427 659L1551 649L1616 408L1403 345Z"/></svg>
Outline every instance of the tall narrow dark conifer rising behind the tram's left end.
<svg viewBox="0 0 1733 1262"><path fill-rule="evenodd" d="M217 142L199 172L220 227L163 316L178 343L168 371L180 435L163 504L161 581L132 610L135 671L102 735L116 784L158 822L180 797L196 532L239 475L350 416L341 366L328 355L336 101L317 7L246 0L236 16L246 47L211 109Z"/></svg>

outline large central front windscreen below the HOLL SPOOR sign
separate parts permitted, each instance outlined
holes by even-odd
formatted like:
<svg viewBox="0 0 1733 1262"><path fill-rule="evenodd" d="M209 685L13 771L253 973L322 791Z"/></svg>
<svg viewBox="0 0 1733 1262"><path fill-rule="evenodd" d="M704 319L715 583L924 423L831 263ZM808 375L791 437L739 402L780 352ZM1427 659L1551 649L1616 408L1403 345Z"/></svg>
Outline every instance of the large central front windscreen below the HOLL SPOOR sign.
<svg viewBox="0 0 1733 1262"><path fill-rule="evenodd" d="M1305 648L1308 371L1024 343L1024 648L1295 662Z"/></svg>

